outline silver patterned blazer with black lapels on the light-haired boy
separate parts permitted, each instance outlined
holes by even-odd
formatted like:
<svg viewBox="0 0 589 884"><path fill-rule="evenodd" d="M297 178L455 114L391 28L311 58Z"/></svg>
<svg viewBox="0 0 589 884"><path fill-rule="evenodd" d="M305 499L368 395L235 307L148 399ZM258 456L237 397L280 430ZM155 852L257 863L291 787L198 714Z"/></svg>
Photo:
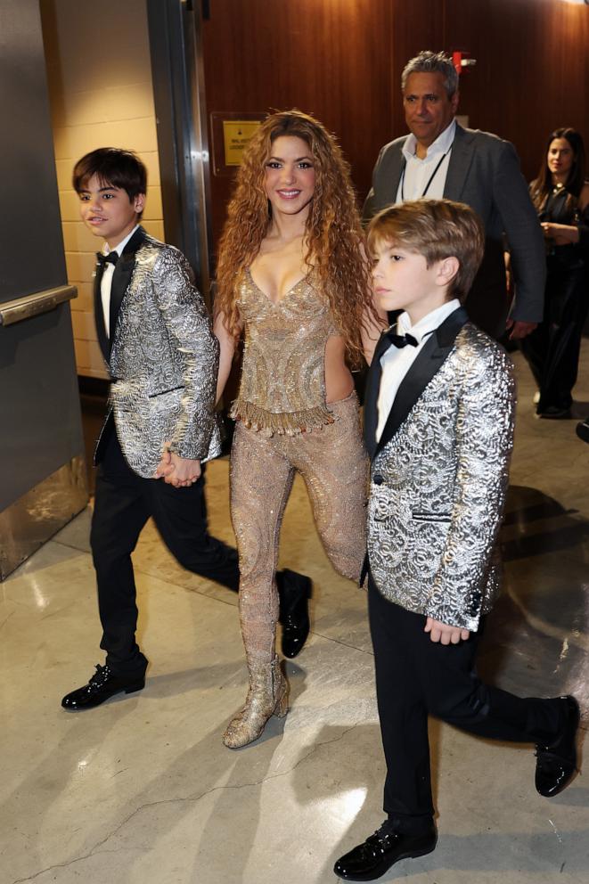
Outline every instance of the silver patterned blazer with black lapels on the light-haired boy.
<svg viewBox="0 0 589 884"><path fill-rule="evenodd" d="M380 338L368 374L368 564L391 602L476 630L499 588L515 383L494 340L454 311L421 349L375 439Z"/></svg>

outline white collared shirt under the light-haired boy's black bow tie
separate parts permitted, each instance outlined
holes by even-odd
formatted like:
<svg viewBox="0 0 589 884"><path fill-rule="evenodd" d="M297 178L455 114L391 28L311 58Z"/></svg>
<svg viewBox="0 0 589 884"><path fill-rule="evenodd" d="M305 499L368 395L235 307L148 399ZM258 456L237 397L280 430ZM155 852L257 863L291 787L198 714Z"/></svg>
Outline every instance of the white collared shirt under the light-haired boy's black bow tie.
<svg viewBox="0 0 589 884"><path fill-rule="evenodd" d="M401 386L401 382L405 378L405 374L409 371L413 362L421 353L421 348L429 339L429 336L439 328L445 319L454 313L460 307L460 301L453 298L446 301L441 307L436 307L426 316L420 319L419 323L415 323L413 328L408 313L402 313L397 319L397 333L411 334L417 340L417 347L407 344L404 348L395 347L391 344L382 356L380 356L380 367L382 373L380 375L380 388L378 398L378 424L376 427L376 441L380 441L382 430L389 418L390 409L393 407L397 390Z"/></svg>

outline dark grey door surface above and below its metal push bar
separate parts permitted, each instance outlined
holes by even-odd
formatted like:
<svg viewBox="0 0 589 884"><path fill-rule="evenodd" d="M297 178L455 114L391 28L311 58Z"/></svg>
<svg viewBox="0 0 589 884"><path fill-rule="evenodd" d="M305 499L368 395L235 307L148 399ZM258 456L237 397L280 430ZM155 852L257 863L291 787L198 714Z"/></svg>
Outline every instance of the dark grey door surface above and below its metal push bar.
<svg viewBox="0 0 589 884"><path fill-rule="evenodd" d="M37 0L0 0L0 119L5 303L67 284ZM0 550L9 544L17 501L23 549L32 552L56 530L55 519L45 519L49 498L29 492L43 490L48 477L83 451L70 305L0 325L0 515L8 526ZM23 499L33 503L23 507ZM83 501L78 492L78 509ZM61 511L64 520L74 512Z"/></svg>

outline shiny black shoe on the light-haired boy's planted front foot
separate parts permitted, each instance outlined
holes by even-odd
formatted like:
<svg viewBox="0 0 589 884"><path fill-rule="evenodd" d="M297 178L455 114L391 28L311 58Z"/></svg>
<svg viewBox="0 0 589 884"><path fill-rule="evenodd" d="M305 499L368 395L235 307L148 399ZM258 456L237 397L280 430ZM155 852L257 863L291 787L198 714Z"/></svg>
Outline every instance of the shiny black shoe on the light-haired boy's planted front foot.
<svg viewBox="0 0 589 884"><path fill-rule="evenodd" d="M436 847L435 826L422 835L392 831L388 823L380 826L363 844L339 857L333 871L347 881L373 881L388 872L400 859L430 854Z"/></svg>

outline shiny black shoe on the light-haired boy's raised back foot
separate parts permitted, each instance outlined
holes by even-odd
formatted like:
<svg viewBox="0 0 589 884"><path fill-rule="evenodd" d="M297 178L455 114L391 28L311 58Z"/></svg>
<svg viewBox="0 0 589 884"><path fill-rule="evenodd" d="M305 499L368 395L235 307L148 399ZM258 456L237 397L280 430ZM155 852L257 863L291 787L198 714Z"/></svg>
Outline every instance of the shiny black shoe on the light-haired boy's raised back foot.
<svg viewBox="0 0 589 884"><path fill-rule="evenodd" d="M566 789L577 772L577 729L581 720L574 697L561 697L565 720L558 740L551 746L536 746L536 789L552 798Z"/></svg>

